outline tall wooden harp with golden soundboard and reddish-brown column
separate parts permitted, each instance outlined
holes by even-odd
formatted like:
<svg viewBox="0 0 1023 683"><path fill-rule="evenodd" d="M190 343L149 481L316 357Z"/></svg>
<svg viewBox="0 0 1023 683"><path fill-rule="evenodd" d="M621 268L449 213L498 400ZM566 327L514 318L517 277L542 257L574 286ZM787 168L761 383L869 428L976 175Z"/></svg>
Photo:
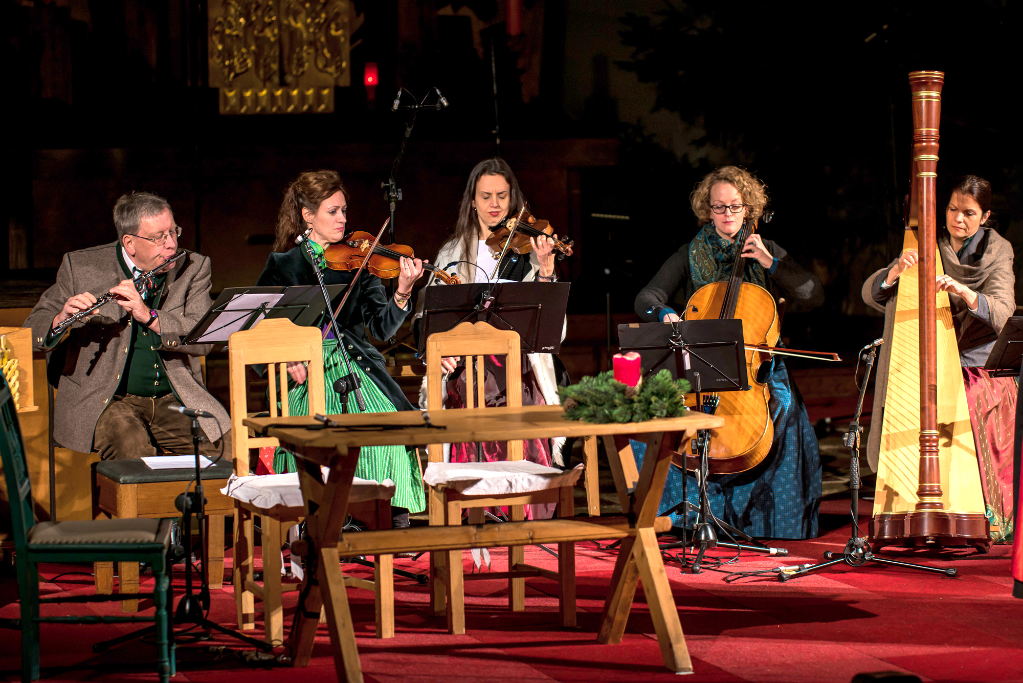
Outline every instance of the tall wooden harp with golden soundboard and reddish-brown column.
<svg viewBox="0 0 1023 683"><path fill-rule="evenodd" d="M942 72L909 74L913 163L902 248L919 248L920 262L899 277L887 339L891 355L870 526L875 551L893 544L982 551L990 545L951 306L935 287L944 272L935 187L943 83Z"/></svg>

